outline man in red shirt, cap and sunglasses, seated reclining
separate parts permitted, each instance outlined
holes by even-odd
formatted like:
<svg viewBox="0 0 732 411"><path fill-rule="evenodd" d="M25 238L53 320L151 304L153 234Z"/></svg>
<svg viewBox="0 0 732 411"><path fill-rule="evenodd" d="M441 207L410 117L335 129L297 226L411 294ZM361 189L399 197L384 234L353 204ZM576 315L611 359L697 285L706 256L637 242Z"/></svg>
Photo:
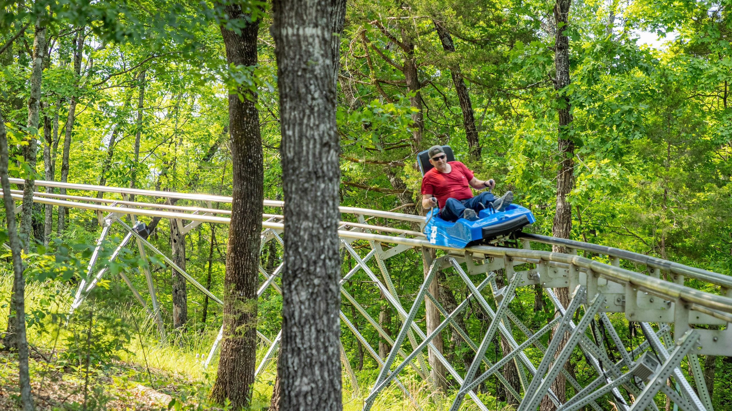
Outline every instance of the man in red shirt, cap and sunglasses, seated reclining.
<svg viewBox="0 0 732 411"><path fill-rule="evenodd" d="M489 205L496 211L504 211L513 201L512 192L506 192L499 198L490 192L482 192L473 197L470 187L493 189L496 181L493 178L488 181L478 180L462 162L448 162L441 146L430 147L427 154L434 168L422 177L422 208L439 206L441 219L455 222L462 217L475 221L478 219L478 212Z"/></svg>

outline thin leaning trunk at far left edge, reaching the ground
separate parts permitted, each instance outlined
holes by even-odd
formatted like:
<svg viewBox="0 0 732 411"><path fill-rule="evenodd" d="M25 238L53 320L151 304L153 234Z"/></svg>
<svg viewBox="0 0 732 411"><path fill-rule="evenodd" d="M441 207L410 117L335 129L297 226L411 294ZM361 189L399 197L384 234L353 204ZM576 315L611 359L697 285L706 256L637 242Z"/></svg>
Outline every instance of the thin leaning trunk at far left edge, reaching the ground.
<svg viewBox="0 0 732 411"><path fill-rule="evenodd" d="M10 181L7 177L8 151L5 123L0 113L0 181L3 190L5 219L7 221L7 235L12 253L13 293L12 308L15 308L15 332L10 338L18 350L18 380L20 382L20 400L23 402L23 411L33 411L33 397L31 396L31 379L28 370L28 341L26 340L26 282L23 279L23 260L20 258L22 246L18 237L18 228L15 226L15 200L10 194ZM5 342L6 347L7 339Z"/></svg>

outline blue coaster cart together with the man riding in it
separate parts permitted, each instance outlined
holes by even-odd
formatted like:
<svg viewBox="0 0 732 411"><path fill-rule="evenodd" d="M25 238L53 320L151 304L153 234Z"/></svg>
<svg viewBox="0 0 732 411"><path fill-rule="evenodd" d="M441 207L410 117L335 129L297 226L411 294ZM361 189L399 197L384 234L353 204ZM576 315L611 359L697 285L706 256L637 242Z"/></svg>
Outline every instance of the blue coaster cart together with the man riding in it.
<svg viewBox="0 0 732 411"><path fill-rule="evenodd" d="M427 213L424 233L432 244L463 248L468 244L496 242L510 237L536 220L527 208L513 204L513 193L496 197L491 178L475 178L455 161L449 146L432 146L418 154L422 171L422 208ZM489 189L473 196L470 187Z"/></svg>

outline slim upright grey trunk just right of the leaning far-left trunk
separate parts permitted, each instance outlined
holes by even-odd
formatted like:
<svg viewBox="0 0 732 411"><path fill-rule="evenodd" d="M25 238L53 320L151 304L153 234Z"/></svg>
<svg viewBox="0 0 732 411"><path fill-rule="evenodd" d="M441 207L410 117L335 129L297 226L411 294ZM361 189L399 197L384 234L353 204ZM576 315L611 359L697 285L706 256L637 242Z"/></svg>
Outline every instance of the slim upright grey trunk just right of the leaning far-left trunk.
<svg viewBox="0 0 732 411"><path fill-rule="evenodd" d="M33 134L29 144L23 146L23 159L31 169L23 182L23 208L20 209L20 244L25 252L30 252L31 227L33 225L33 189L35 188L36 149L38 137L38 116L41 103L41 80L43 75L43 60L46 49L45 26L36 22L36 33L33 40L33 68L31 69L31 90L28 98L28 128Z"/></svg>

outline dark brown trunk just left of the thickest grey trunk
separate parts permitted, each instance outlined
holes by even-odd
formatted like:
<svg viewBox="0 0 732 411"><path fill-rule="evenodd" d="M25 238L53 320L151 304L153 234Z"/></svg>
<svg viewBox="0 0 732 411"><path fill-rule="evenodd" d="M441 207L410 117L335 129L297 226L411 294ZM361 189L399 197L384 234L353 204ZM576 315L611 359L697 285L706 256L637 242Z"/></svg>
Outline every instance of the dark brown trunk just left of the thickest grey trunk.
<svg viewBox="0 0 732 411"><path fill-rule="evenodd" d="M239 4L224 6L229 18L245 22ZM239 34L221 26L226 61L238 67L257 64L259 20L245 23ZM239 94L247 98L239 99ZM231 401L235 410L248 408L252 398L257 355L257 286L259 234L264 211L264 157L256 94L245 89L228 96L231 135L232 197L224 276L224 336L216 382L210 398Z"/></svg>

